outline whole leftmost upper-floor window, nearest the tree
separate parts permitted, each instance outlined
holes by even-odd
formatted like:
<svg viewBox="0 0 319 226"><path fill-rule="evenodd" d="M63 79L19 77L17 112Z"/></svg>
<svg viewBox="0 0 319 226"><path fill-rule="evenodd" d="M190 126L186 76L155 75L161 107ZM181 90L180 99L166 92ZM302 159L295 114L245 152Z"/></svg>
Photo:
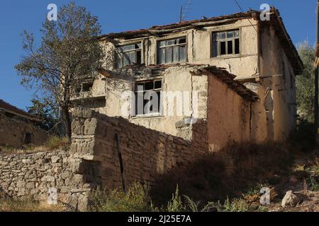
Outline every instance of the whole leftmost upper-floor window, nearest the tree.
<svg viewBox="0 0 319 226"><path fill-rule="evenodd" d="M125 44L117 47L116 68L142 63L142 43Z"/></svg>

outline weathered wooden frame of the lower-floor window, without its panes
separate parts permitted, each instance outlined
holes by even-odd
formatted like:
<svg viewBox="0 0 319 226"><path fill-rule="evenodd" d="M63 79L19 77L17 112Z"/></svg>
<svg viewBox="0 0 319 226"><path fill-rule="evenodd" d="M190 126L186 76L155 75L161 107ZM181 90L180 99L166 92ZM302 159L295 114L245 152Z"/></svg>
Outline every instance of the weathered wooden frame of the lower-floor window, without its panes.
<svg viewBox="0 0 319 226"><path fill-rule="evenodd" d="M155 82L160 81L161 82L161 88L155 88ZM151 90L145 90L145 85L143 90L138 90L138 85L141 83L150 83L153 82L153 88ZM163 109L163 102L162 102L162 90L163 90L163 84L164 84L164 79L163 78L152 78L152 79L148 79L148 80L140 80L140 81L135 81L135 85L134 85L134 95L135 95L135 102L133 102L133 105L135 106L135 112L133 117L158 117L158 116L162 116L162 109ZM136 105L138 103L138 98L137 95L138 93L143 93L143 100L144 100L144 93L147 91L151 91L151 92L155 92L155 93L160 93L159 95L159 106L158 106L158 112L147 112L144 113L144 108L145 108L145 104L143 103L143 114L138 114L138 109L136 109ZM150 101L150 100L148 100Z"/></svg>

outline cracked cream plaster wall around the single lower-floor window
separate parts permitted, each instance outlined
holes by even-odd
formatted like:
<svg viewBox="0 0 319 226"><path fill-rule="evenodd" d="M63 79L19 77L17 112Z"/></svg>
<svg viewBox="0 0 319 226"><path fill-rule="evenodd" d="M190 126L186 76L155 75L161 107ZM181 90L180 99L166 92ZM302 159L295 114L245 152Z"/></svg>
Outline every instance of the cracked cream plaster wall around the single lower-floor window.
<svg viewBox="0 0 319 226"><path fill-rule="evenodd" d="M207 76L193 76L192 70L194 69L191 66L172 66L168 69L163 68L157 71L143 67L140 71L139 69L118 70L112 78L107 79L106 107L105 110L99 112L105 113L110 117L121 116L133 124L190 139L191 136L183 136L179 133L176 123L191 117L206 119L208 95ZM163 113L133 116L130 110L135 105L135 102L132 103L131 98L123 94L135 90L136 81L155 78L162 79L162 91L167 92L166 96L162 95L161 97ZM184 91L186 92L183 93ZM197 97L192 92L196 92L194 95L197 95ZM179 95L181 95L181 99L178 98ZM184 99L183 95L188 97L188 99ZM172 101L173 97L174 100ZM127 103L129 104L129 114L123 115L122 110L123 107L127 106ZM171 107L172 114L170 114Z"/></svg>

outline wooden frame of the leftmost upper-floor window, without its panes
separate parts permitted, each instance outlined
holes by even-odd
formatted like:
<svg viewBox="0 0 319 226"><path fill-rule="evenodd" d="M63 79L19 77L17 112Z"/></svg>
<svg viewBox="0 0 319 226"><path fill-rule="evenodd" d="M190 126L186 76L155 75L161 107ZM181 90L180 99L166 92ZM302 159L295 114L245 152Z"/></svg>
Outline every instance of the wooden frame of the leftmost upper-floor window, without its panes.
<svg viewBox="0 0 319 226"><path fill-rule="evenodd" d="M119 51L119 48L121 47L125 47L128 45L135 45L135 44L140 44L140 48L138 49L130 49L130 50L125 50L125 51ZM129 52L134 52L135 54L135 61L136 59L138 59L137 57L137 52L140 52L140 64L142 64L143 62L143 42L142 40L140 40L139 42L131 42L131 43L123 43L123 44L119 44L118 46L116 46L116 64L115 64L115 68L116 69L121 69L125 66L131 66L131 65L139 65L138 63L132 64L132 62L130 62L130 64L127 64L124 66L124 60L125 58L123 57L124 54L129 53ZM121 64L118 62L118 60L121 60Z"/></svg>

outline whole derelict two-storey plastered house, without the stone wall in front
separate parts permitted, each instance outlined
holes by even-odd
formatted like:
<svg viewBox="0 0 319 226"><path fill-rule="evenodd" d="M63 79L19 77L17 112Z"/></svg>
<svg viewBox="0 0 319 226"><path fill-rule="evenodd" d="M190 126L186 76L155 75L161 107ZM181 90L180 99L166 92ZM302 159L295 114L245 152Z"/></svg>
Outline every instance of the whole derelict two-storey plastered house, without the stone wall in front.
<svg viewBox="0 0 319 226"><path fill-rule="evenodd" d="M83 84L84 94L91 90L84 107L191 139L192 125L183 122L194 118L196 105L210 150L228 141L284 140L296 125L295 76L303 63L279 11L272 8L270 20L259 15L248 11L101 36L108 57L99 77ZM163 114L172 101L165 96L158 108L138 114L133 100L123 115L127 90L198 96L184 97L191 107L182 115L176 106L174 115Z"/></svg>

